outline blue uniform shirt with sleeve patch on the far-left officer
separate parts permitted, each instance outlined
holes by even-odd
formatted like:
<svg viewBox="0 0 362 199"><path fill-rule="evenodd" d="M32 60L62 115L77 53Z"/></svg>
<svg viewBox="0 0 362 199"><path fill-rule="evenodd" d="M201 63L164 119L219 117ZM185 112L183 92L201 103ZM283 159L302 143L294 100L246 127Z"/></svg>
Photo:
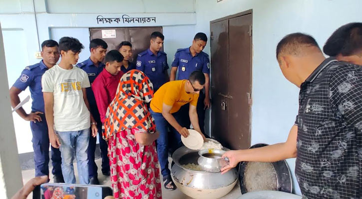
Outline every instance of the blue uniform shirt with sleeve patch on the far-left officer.
<svg viewBox="0 0 362 199"><path fill-rule="evenodd" d="M41 76L48 70L43 60L39 63L27 66L21 72L20 77L15 81L13 87L24 91L27 87L30 90L30 96L32 99L31 111L44 112L44 98L43 92L41 92Z"/></svg>

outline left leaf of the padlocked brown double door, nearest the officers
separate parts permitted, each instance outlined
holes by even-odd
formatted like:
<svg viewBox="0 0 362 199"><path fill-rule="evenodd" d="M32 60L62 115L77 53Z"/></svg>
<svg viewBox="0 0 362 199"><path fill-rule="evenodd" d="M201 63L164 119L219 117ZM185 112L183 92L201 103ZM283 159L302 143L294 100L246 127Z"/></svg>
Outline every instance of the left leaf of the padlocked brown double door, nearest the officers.
<svg viewBox="0 0 362 199"><path fill-rule="evenodd" d="M212 137L223 145L227 143L228 104L224 96L229 95L229 39L228 20L210 25L211 32L211 131Z"/></svg>

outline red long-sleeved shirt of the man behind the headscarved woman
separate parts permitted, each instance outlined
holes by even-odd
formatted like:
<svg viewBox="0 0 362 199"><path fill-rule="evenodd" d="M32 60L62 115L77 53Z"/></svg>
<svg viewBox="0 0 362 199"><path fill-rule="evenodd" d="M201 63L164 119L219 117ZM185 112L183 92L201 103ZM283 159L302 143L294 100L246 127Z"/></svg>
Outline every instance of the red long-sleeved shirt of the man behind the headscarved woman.
<svg viewBox="0 0 362 199"><path fill-rule="evenodd" d="M119 71L117 75L110 74L105 68L95 78L92 84L94 98L97 103L100 121L103 123L108 105L116 95L119 80L124 73Z"/></svg>

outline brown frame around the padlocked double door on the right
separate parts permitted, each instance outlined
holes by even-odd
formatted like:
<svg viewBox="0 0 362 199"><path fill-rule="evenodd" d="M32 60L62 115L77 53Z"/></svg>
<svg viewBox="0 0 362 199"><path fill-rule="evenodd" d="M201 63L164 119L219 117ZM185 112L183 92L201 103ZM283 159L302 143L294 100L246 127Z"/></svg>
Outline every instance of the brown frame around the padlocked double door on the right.
<svg viewBox="0 0 362 199"><path fill-rule="evenodd" d="M250 70L250 112L249 112L249 118L250 118L250 123L249 123L249 138L250 138L250 144L251 144L251 139L252 139L252 106L253 106L253 9L248 9L248 10L245 10L245 11L242 11L242 12L239 12L239 13L236 13L236 14L231 14L231 15L228 15L228 16L225 16L225 17L222 17L222 18L218 18L218 19L214 19L212 21L210 21L210 29L211 29L211 24L212 23L216 23L216 22L219 22L219 21L223 21L223 20L229 20L229 19L232 19L232 18L235 18L235 17L239 17L239 16L243 16L243 15L247 15L247 14L251 14L251 28L250 28L250 34L251 34L251 48L250 48L250 64L251 64L251 70ZM210 30L210 34L211 34L211 30ZM211 39L212 35L210 35L210 39ZM211 43L210 43L210 54L211 54ZM212 63L211 63L212 65ZM211 67L211 73L212 73L212 67ZM211 73L210 73L210 77L211 77ZM212 82L212 78L210 79L210 85L211 85L211 82ZM211 92L211 91L210 91ZM211 111L212 111L212 107L211 107ZM210 112L210 121L212 121L212 118L211 118L211 112ZM211 126L211 124L210 124ZM210 135L212 137L212 129L210 127Z"/></svg>

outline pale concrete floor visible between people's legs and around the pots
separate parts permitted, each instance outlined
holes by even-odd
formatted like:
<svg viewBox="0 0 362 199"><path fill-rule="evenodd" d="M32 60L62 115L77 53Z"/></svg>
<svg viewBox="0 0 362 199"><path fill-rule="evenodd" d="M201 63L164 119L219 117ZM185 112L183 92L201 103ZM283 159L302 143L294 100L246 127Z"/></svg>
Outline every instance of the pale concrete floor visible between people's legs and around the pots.
<svg viewBox="0 0 362 199"><path fill-rule="evenodd" d="M171 158L169 158L169 159L171 159ZM106 185L106 186L111 187L111 182L110 182L109 177L102 175L101 166L100 166L101 165L101 160L98 159L95 162L96 162L96 164L98 166L98 180L99 180L99 182L102 185ZM77 168L76 168L76 163L74 163L74 170L75 170L75 177L78 179L78 171L77 171ZM23 183L25 184L29 179L34 177L35 170L34 169L32 169L32 170L23 170L21 173L22 173ZM52 183L52 179L53 179L53 176L50 174L50 183ZM239 183L237 183L236 186L234 187L234 189L228 195L226 195L225 197L223 197L221 199L237 199L240 196L241 196L240 186L239 186ZM30 194L27 198L32 199L32 194ZM176 189L174 191L166 191L164 189L163 185L162 185L162 199L192 199L192 198L184 195L178 189Z"/></svg>

